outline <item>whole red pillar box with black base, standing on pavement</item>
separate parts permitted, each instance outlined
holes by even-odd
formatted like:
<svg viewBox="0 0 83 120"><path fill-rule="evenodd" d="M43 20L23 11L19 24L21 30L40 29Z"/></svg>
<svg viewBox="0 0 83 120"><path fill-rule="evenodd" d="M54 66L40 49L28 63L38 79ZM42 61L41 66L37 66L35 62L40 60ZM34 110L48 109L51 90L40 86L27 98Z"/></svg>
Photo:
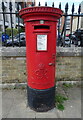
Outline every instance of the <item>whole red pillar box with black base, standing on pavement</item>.
<svg viewBox="0 0 83 120"><path fill-rule="evenodd" d="M28 7L19 12L26 32L28 105L35 111L55 106L57 21L62 11L52 7Z"/></svg>

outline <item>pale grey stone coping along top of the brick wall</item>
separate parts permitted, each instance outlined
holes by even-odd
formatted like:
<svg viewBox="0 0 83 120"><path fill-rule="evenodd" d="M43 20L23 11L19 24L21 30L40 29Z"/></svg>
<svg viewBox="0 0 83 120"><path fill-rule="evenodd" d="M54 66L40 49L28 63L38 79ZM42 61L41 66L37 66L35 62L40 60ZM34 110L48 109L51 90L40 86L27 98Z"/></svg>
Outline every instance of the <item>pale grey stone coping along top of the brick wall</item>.
<svg viewBox="0 0 83 120"><path fill-rule="evenodd" d="M57 56L83 56L81 47L57 47ZM26 47L0 47L0 56L26 56Z"/></svg>

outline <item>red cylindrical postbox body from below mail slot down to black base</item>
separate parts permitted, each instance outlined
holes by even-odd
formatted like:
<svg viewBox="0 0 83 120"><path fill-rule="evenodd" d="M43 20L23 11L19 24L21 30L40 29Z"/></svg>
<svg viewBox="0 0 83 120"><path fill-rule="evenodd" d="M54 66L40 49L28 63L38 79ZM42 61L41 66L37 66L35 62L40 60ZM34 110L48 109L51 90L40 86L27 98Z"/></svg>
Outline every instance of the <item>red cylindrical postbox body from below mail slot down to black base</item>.
<svg viewBox="0 0 83 120"><path fill-rule="evenodd" d="M29 35L29 27L26 29L28 86L34 89L48 89L55 85L55 26L52 26L53 32L42 29L33 31L32 35Z"/></svg>

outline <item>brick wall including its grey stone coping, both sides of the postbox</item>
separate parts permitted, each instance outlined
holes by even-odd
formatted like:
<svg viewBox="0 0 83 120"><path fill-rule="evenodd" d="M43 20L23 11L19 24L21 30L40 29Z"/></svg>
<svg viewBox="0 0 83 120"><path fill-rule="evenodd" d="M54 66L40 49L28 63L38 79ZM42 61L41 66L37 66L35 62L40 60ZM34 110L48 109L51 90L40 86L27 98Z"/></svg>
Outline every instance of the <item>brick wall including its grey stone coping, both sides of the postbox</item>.
<svg viewBox="0 0 83 120"><path fill-rule="evenodd" d="M82 49L57 47L56 80L81 80ZM26 82L26 47L0 47L0 78L2 83Z"/></svg>

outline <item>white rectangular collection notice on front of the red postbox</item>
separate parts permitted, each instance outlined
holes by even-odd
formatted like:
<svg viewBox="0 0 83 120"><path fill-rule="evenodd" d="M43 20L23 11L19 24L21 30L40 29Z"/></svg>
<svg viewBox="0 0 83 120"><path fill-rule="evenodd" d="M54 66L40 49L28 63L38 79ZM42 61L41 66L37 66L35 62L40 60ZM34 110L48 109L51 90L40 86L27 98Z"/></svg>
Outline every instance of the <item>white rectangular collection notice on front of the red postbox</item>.
<svg viewBox="0 0 83 120"><path fill-rule="evenodd" d="M37 35L37 51L47 51L47 35Z"/></svg>

